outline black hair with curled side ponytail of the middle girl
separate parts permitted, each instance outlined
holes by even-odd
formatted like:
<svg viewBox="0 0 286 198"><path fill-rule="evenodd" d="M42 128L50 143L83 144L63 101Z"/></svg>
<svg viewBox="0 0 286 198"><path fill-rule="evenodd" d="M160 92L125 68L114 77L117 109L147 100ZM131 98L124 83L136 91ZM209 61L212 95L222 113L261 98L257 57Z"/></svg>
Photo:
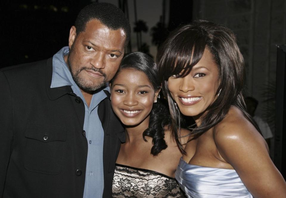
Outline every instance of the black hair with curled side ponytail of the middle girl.
<svg viewBox="0 0 286 198"><path fill-rule="evenodd" d="M147 78L157 91L161 88L161 82L158 79L158 67L154 60L142 52L133 52L126 55L119 66L119 69L110 81L111 86L116 79L118 73L123 69L135 69L142 71L146 74ZM162 150L167 148L167 144L164 140L165 136L165 126L170 126L171 117L166 106L157 99L157 103L153 103L153 108L150 113L149 127L143 132L143 139L145 141L145 136L152 137L153 147L151 149L152 155L158 155Z"/></svg>

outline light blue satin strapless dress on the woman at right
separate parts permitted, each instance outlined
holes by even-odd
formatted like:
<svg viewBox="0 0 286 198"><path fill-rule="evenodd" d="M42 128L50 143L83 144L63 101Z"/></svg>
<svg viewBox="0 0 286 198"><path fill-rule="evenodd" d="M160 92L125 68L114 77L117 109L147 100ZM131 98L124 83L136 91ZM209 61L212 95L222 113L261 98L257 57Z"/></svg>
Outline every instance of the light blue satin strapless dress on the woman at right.
<svg viewBox="0 0 286 198"><path fill-rule="evenodd" d="M187 197L253 198L235 170L187 164L181 158L175 177Z"/></svg>

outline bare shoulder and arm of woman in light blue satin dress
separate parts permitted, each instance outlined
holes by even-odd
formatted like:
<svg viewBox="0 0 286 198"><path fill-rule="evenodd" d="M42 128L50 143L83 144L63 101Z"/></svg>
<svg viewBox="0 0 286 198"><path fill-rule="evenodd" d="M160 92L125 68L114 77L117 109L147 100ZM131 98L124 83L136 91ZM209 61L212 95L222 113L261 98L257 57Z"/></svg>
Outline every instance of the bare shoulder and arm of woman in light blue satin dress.
<svg viewBox="0 0 286 198"><path fill-rule="evenodd" d="M285 193L285 181L269 157L265 140L242 111L231 107L215 126L213 136L218 153L254 197Z"/></svg>

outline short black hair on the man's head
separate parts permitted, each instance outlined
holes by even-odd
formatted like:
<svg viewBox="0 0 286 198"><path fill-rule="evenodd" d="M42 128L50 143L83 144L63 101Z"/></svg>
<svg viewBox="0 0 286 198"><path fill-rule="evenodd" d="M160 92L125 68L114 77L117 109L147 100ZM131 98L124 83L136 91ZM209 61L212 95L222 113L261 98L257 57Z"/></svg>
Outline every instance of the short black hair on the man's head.
<svg viewBox="0 0 286 198"><path fill-rule="evenodd" d="M84 7L74 23L77 35L85 31L86 24L93 19L97 19L112 30L122 28L126 34L125 46L128 44L131 32L130 23L118 7L110 3L92 3Z"/></svg>

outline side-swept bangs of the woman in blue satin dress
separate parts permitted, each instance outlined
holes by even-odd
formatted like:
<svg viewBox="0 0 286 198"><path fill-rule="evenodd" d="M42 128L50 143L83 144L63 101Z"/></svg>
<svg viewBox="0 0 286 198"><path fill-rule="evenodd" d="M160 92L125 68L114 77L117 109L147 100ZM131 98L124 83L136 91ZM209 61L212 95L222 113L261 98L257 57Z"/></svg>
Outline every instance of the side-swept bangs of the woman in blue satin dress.
<svg viewBox="0 0 286 198"><path fill-rule="evenodd" d="M172 34L161 46L157 56L161 81L168 80L172 75L188 75L203 56L206 46L206 37L198 34L197 29L192 29L192 25L179 28Z"/></svg>

